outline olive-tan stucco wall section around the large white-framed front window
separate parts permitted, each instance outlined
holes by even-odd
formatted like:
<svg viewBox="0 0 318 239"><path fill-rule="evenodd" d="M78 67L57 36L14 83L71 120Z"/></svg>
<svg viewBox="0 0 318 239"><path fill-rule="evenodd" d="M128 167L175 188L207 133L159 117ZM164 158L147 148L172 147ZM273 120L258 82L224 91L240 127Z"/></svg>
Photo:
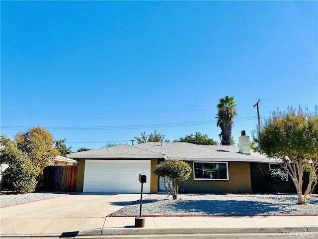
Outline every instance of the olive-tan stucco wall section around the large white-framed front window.
<svg viewBox="0 0 318 239"><path fill-rule="evenodd" d="M249 162L229 162L229 180L194 180L193 162L186 161L192 168L189 180L179 183L185 193L251 193Z"/></svg>

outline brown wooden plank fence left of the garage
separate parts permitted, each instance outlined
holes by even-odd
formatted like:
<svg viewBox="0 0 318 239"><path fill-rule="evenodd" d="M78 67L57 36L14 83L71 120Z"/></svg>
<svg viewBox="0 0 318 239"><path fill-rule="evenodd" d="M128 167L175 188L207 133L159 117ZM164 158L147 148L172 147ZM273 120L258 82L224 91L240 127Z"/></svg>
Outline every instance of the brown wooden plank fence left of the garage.
<svg viewBox="0 0 318 239"><path fill-rule="evenodd" d="M47 166L43 188L46 191L76 192L78 166Z"/></svg>

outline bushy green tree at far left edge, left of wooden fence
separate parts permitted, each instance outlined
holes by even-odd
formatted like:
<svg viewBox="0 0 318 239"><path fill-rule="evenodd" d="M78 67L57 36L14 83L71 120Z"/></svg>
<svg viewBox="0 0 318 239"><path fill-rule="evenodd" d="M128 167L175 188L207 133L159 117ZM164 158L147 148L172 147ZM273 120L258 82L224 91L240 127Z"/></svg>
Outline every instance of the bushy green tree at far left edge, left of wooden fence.
<svg viewBox="0 0 318 239"><path fill-rule="evenodd" d="M19 193L34 192L37 177L41 174L43 167L28 156L23 156L22 151L11 139L1 136L0 144L1 161L9 165L3 173L5 186Z"/></svg>

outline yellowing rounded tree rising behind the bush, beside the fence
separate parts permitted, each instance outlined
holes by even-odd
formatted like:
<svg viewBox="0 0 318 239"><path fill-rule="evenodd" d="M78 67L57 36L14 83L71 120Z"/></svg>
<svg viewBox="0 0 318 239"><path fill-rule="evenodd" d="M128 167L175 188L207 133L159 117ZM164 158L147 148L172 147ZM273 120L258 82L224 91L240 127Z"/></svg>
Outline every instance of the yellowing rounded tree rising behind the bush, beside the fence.
<svg viewBox="0 0 318 239"><path fill-rule="evenodd" d="M59 150L53 147L53 135L40 126L31 127L26 132L18 132L15 142L23 156L36 161L42 167L59 155Z"/></svg>

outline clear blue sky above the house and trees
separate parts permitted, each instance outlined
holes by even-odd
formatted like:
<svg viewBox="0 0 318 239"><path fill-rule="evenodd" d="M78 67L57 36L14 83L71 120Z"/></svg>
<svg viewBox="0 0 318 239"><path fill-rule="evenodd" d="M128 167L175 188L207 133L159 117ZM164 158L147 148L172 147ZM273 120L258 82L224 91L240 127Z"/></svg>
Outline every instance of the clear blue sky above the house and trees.
<svg viewBox="0 0 318 239"><path fill-rule="evenodd" d="M317 1L1 1L1 135L31 126L76 150L141 132L220 142L260 115L318 104Z"/></svg>

